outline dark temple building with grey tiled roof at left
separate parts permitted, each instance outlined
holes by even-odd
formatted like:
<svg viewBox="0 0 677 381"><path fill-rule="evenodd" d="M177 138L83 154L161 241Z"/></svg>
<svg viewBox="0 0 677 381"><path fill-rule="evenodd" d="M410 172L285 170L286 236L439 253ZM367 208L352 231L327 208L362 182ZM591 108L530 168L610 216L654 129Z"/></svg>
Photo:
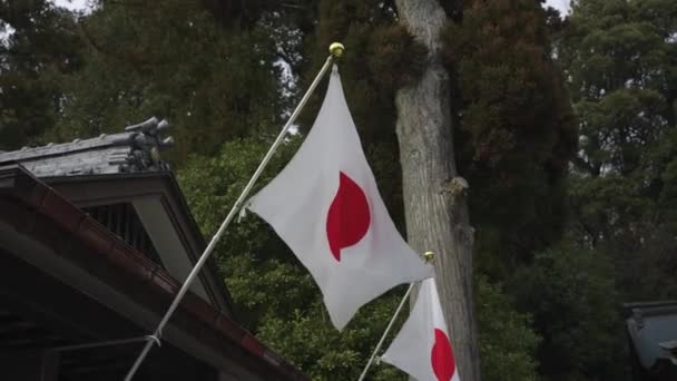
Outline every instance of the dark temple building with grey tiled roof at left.
<svg viewBox="0 0 677 381"><path fill-rule="evenodd" d="M0 153L0 368L121 381L205 247L166 121ZM236 323L213 262L135 380L307 380Z"/></svg>

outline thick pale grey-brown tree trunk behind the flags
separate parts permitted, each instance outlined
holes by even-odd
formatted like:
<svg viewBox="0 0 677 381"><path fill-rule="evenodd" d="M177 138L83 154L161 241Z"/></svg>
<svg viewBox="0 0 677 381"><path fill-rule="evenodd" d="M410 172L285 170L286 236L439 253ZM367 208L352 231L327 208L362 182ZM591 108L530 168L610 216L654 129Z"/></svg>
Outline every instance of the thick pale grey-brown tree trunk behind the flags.
<svg viewBox="0 0 677 381"><path fill-rule="evenodd" d="M409 243L435 253L436 283L459 375L480 380L472 282L473 228L468 184L457 177L449 74L440 30L447 14L436 0L395 0L400 21L429 49L421 79L398 91L398 139Z"/></svg>

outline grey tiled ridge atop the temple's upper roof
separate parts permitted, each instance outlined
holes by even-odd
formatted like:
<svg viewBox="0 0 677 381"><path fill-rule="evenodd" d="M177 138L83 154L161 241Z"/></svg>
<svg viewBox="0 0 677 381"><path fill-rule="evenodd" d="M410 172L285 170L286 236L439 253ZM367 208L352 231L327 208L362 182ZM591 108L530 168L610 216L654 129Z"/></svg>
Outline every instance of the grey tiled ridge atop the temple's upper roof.
<svg viewBox="0 0 677 381"><path fill-rule="evenodd" d="M166 120L153 117L119 134L0 152L0 166L19 163L37 177L167 170L159 152L174 141L161 137L168 128Z"/></svg>

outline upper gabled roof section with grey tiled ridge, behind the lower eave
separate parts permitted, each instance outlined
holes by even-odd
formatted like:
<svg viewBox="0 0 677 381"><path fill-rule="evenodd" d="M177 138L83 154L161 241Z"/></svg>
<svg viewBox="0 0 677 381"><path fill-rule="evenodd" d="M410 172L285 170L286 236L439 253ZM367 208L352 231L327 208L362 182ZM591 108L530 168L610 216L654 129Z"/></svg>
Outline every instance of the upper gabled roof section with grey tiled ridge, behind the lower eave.
<svg viewBox="0 0 677 381"><path fill-rule="evenodd" d="M0 152L0 168L21 166L77 207L89 207L87 213L101 206L131 211L107 214L102 224L116 229L108 224L127 226L137 218L140 233L136 234L150 240L143 252L149 256L156 252L155 260L171 276L185 279L206 245L169 164L160 157L160 150L174 143L164 136L169 123L151 117L120 129L118 134ZM229 294L213 261L192 290L232 314Z"/></svg>

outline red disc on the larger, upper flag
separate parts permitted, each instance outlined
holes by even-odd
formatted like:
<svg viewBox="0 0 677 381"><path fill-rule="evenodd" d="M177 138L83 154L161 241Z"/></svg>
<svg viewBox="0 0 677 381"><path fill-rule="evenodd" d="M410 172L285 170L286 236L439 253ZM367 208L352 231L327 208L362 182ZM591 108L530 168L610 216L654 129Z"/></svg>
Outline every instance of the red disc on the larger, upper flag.
<svg viewBox="0 0 677 381"><path fill-rule="evenodd" d="M341 262L341 250L360 242L371 224L364 190L343 172L338 173L338 190L326 216L326 237L332 255Z"/></svg>

